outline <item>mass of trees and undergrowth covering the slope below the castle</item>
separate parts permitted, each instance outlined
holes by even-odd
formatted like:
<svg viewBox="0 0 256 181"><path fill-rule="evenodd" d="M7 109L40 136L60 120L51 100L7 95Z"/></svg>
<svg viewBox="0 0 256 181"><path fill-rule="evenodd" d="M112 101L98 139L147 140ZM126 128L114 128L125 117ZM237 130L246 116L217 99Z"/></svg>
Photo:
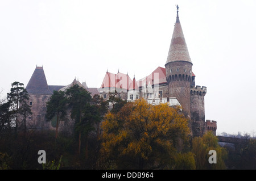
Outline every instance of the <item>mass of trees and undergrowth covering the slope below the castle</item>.
<svg viewBox="0 0 256 181"><path fill-rule="evenodd" d="M59 121L69 113L75 121L75 137L65 132L56 137L50 130L16 129L31 113L28 94L14 82L7 95L0 101L0 169L256 169L254 138L239 134L236 144L222 147L211 132L192 139L179 107L126 102L115 93L105 101L75 85L54 92L47 103L48 121L57 119L57 111ZM47 153L43 166L40 149ZM209 150L217 151L217 164L208 162Z"/></svg>

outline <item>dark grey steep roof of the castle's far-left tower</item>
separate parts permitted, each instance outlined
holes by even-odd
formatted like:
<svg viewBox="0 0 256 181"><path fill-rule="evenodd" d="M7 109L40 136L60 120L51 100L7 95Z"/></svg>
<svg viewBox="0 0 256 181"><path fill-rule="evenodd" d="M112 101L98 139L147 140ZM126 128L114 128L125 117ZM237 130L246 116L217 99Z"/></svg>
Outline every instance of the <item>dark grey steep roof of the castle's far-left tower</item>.
<svg viewBox="0 0 256 181"><path fill-rule="evenodd" d="M52 94L46 81L43 66L36 66L36 69L34 70L34 73L26 86L26 90L28 94Z"/></svg>

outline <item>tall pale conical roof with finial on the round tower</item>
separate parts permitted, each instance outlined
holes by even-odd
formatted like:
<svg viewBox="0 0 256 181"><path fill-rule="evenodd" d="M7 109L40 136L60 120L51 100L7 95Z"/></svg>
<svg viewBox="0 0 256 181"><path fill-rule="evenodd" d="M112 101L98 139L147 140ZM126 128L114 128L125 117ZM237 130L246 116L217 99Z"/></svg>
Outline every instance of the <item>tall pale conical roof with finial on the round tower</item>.
<svg viewBox="0 0 256 181"><path fill-rule="evenodd" d="M184 34L180 24L178 6L177 6L176 23L174 27L174 32L172 33L172 40L171 40L171 45L168 52L166 64L168 62L175 62L175 61L187 61L187 62L191 62L192 64L191 58L188 53L187 44L186 44Z"/></svg>

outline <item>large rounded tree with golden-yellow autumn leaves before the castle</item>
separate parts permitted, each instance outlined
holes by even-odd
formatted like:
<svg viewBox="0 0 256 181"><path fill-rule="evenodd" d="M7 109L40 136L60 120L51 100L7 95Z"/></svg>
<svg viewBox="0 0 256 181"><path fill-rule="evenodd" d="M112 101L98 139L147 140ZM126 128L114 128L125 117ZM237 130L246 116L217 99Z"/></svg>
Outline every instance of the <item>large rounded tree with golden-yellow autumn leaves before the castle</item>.
<svg viewBox="0 0 256 181"><path fill-rule="evenodd" d="M184 158L178 148L189 136L188 120L179 107L152 106L144 99L125 104L118 113L109 112L102 131L101 153L116 169L175 169L176 155ZM193 155L184 154L189 157L184 167L194 169Z"/></svg>

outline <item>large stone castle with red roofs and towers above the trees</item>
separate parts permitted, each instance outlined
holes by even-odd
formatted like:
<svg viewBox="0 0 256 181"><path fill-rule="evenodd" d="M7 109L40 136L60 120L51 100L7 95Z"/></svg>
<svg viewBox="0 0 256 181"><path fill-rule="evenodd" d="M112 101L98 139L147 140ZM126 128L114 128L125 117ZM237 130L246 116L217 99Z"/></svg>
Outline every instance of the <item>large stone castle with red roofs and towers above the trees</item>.
<svg viewBox="0 0 256 181"><path fill-rule="evenodd" d="M69 86L78 84L103 99L109 98L109 92L117 92L115 96L133 102L144 98L150 104L167 103L169 106L180 105L189 118L191 134L201 136L206 131L216 134L216 121L205 121L204 96L207 87L196 86L195 74L192 72L192 61L189 56L187 44L181 28L179 9L172 34L171 45L167 56L165 68L158 67L150 75L136 81L128 74L118 71L117 74L106 71L100 88L89 88L86 83L76 79L68 86L48 86L43 67L36 66L26 89L30 94L30 105L33 114L28 117L28 128L51 129L51 123L44 120L46 102L53 91L65 90Z"/></svg>

